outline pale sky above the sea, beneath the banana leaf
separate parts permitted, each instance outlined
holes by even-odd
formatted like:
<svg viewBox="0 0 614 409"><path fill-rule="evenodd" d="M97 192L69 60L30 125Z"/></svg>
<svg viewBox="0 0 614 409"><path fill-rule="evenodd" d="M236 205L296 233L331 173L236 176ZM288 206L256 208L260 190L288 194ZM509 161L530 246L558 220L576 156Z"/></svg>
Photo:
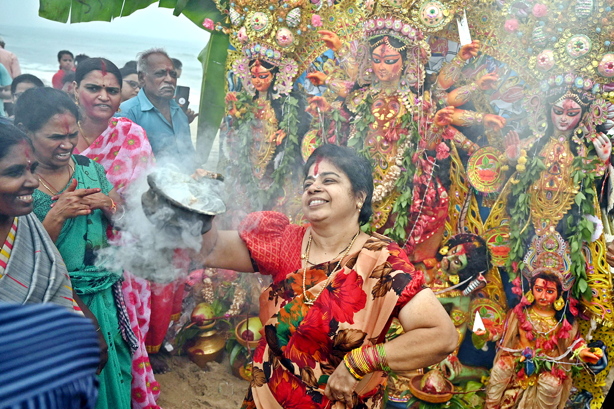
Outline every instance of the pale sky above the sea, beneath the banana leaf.
<svg viewBox="0 0 614 409"><path fill-rule="evenodd" d="M111 22L91 21L72 25L39 17L38 9L38 0L0 0L0 10L2 10L0 12L0 34L3 34L2 26L16 25L49 28L63 26L75 32L101 32L112 29L115 34L130 35L138 32L139 36L176 40L193 39L198 40L201 44L206 44L209 38L208 32L196 26L187 17L184 15L175 17L173 9L158 7L157 3L129 16L115 18Z"/></svg>

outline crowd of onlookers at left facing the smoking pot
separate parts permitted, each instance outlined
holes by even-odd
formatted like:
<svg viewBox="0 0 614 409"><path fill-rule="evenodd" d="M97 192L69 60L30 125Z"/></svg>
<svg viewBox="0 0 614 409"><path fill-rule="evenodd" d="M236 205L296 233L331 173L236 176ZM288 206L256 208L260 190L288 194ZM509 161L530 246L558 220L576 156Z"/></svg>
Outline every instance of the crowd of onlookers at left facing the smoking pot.
<svg viewBox="0 0 614 409"><path fill-rule="evenodd" d="M96 251L109 247L109 226L125 213L120 195L155 166L155 157L193 170L189 122L196 114L188 111L188 118L173 99L175 64L181 62L153 48L120 70L108 59L73 58L63 50L51 88L21 74L12 53L3 53L5 59L12 71L2 83L10 89L6 106L14 125L2 124L0 142L6 199L0 210L0 302L51 302L93 320L100 358L90 372L84 364L90 378L72 386L74 377L66 378L62 387L79 392L70 407L86 393L81 401L87 407L130 408L131 401L132 407L156 407L160 391L148 351L160 348L176 313L173 303L128 271L100 267ZM70 352L77 361L80 353Z"/></svg>

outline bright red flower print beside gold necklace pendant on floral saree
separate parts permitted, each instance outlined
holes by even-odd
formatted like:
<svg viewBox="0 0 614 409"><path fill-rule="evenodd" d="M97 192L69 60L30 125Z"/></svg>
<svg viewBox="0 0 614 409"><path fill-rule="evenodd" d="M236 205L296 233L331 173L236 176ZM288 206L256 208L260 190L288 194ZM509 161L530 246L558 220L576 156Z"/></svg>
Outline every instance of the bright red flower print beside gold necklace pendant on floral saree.
<svg viewBox="0 0 614 409"><path fill-rule="evenodd" d="M365 308L366 303L367 294L362 291L362 277L351 270L348 274L338 272L322 291L316 305L324 311L330 311L336 321L354 324L354 313Z"/></svg>

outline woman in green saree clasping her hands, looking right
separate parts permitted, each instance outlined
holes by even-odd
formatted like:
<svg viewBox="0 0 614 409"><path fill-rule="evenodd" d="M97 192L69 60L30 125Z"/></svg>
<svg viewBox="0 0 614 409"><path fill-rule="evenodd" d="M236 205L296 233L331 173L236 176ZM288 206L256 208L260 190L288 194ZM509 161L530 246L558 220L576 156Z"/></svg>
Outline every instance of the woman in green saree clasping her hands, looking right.
<svg viewBox="0 0 614 409"><path fill-rule="evenodd" d="M103 102L84 101L93 109L110 109ZM34 213L55 241L74 291L98 319L108 345L96 409L130 409L131 349L137 340L123 302L123 273L101 267L112 263L96 254L109 247L108 223L122 216L123 208L104 168L72 155L78 119L76 105L53 88L28 90L15 107L15 123L32 140L39 162L36 176L41 185L33 194Z"/></svg>

